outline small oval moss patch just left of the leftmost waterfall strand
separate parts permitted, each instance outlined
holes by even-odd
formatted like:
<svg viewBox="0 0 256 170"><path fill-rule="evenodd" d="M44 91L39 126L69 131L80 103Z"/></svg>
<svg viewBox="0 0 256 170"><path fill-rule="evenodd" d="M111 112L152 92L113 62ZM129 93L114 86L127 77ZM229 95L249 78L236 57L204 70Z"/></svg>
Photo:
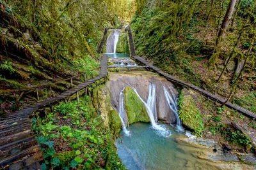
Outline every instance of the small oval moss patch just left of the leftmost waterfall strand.
<svg viewBox="0 0 256 170"><path fill-rule="evenodd" d="M109 128L113 134L119 134L122 127L122 122L118 113L115 110L109 111Z"/></svg>

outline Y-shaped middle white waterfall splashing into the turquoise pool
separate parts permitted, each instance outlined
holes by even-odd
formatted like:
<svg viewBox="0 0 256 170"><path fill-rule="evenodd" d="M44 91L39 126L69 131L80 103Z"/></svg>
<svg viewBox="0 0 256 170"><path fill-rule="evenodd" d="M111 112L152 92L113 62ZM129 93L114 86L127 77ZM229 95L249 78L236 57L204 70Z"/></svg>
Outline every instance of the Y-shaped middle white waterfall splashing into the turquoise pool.
<svg viewBox="0 0 256 170"><path fill-rule="evenodd" d="M164 136L166 138L170 136L171 133L170 131L168 131L168 129L166 129L163 125L157 124L156 85L154 83L149 84L149 93L148 93L147 103L140 97L140 95L138 94L137 90L134 87L132 87L131 85L130 87L132 88L132 90L134 90L134 92L137 94L137 96L140 98L140 100L144 104L153 129L156 129L157 131L159 131L160 132L159 135L161 136Z"/></svg>

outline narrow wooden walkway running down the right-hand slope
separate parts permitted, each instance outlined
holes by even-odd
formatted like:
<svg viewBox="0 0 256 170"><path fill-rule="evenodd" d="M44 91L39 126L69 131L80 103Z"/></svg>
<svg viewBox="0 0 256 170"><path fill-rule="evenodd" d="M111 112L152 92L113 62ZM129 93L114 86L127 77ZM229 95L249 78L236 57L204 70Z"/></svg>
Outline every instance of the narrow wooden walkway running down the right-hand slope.
<svg viewBox="0 0 256 170"><path fill-rule="evenodd" d="M214 95L214 94L212 94L210 92L207 92L206 90L200 89L199 87L196 87L195 85L193 85L191 83L179 80L178 78L175 78L174 76L171 76L170 74L164 73L163 71L161 71L161 69L153 66L147 60L145 60L145 59L143 59L143 58L141 58L139 56L136 56L135 55L135 48L134 48L134 41L133 41L133 38L132 38L132 32L131 32L130 29L126 29L126 31L128 32L131 57L133 59L137 60L138 62L141 62L145 66L148 66L150 69L152 69L153 71L156 71L156 73L160 74L161 76L164 76L164 78L166 78L169 81L172 81L173 83L178 83L178 84L180 84L182 86L189 87L190 89L193 89L196 92L199 92L203 96L205 96L205 97L207 97L209 99L212 99L212 101L216 101L216 102L218 102L220 104L225 103L226 99L223 99L223 98L221 98L219 96L216 96L216 95ZM250 118L253 118L253 119L256 118L255 113L253 113L252 111L246 110L243 107L238 106L236 104L232 104L232 103L228 102L228 103L225 104L225 106L227 106L228 108L231 108L233 110L237 110L237 111L243 113L244 115L246 115L247 117L250 117Z"/></svg>

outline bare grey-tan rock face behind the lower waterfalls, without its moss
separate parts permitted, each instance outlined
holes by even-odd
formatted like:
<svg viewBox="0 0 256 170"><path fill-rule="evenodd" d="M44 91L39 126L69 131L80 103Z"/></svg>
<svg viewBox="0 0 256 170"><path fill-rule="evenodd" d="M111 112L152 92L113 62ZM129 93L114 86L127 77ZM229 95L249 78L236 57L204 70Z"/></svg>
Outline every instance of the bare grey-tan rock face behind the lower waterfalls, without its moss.
<svg viewBox="0 0 256 170"><path fill-rule="evenodd" d="M141 72L145 72L141 74ZM110 76L110 81L108 81L107 86L111 92L111 104L113 108L118 111L119 110L119 95L125 87L133 87L137 90L143 101L147 102L148 91L150 83L154 83L156 85L156 111L157 118L159 120L164 120L166 124L173 124L176 122L175 115L170 110L168 102L164 96L163 87L166 89L172 89L174 96L178 96L178 92L173 88L172 83L169 81L156 76L156 74L152 74L148 71L136 71L136 73L129 74L127 73L112 73ZM129 99L126 99L126 102ZM124 120L127 124L128 120Z"/></svg>

